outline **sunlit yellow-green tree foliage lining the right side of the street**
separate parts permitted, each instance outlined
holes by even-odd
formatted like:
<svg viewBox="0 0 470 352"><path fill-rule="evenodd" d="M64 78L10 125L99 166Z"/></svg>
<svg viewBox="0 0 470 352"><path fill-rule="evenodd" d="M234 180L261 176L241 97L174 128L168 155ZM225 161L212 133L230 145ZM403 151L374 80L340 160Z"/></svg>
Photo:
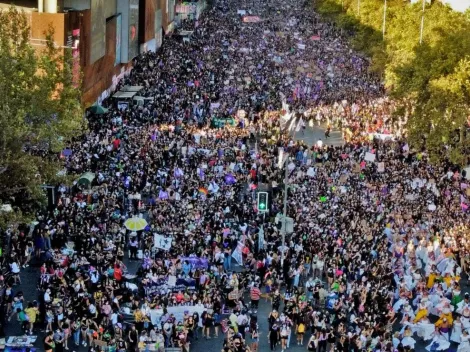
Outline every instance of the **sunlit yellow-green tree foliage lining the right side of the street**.
<svg viewBox="0 0 470 352"><path fill-rule="evenodd" d="M424 144L434 159L447 150L452 161L467 164L470 11L458 13L438 1L426 5L420 44L420 3L387 0L385 37L384 0L316 4L319 13L353 34L352 44L372 58L372 69L407 108L412 144Z"/></svg>

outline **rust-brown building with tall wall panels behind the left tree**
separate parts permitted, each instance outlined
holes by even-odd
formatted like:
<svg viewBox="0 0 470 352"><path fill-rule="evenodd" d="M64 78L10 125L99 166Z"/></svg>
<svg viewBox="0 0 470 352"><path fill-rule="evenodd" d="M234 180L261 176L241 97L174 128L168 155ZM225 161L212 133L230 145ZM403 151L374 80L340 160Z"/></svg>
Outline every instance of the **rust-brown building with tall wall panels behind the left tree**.
<svg viewBox="0 0 470 352"><path fill-rule="evenodd" d="M86 106L106 98L139 53L157 50L174 28L175 0L0 0L24 10L31 44L45 45L52 24L58 47L71 48Z"/></svg>

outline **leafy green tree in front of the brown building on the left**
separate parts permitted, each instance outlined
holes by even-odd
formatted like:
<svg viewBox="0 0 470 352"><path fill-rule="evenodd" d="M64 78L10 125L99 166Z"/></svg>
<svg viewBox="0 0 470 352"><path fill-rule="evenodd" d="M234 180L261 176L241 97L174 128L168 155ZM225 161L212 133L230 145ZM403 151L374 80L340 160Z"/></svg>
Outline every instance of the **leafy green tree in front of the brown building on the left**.
<svg viewBox="0 0 470 352"><path fill-rule="evenodd" d="M29 32L24 12L0 11L0 206L13 207L0 226L44 201L40 186L57 180L59 152L85 126L71 51L55 47L51 26L40 51Z"/></svg>

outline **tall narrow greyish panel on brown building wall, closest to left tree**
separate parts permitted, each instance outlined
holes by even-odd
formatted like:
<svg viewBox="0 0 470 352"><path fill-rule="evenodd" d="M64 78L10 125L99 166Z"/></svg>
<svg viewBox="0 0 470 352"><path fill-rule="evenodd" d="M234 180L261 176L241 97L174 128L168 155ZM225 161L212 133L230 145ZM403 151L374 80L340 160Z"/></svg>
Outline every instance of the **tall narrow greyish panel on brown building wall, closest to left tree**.
<svg viewBox="0 0 470 352"><path fill-rule="evenodd" d="M91 49L90 64L101 59L106 53L106 21L104 15L104 1L91 2Z"/></svg>

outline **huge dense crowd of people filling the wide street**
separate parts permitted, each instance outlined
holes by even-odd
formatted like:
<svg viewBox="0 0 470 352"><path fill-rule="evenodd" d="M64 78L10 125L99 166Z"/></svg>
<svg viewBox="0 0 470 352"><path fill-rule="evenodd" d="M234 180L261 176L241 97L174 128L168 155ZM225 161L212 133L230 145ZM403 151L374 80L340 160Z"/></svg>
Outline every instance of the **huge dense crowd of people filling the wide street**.
<svg viewBox="0 0 470 352"><path fill-rule="evenodd" d="M310 2L219 0L197 24L120 83L153 100L104 102L63 155L90 187L61 186L53 211L11 229L8 319L46 330L47 352L189 351L219 335L224 352L257 351L260 335L282 351L470 351L465 175L408 146L368 60ZM286 107L346 143L294 141Z"/></svg>

